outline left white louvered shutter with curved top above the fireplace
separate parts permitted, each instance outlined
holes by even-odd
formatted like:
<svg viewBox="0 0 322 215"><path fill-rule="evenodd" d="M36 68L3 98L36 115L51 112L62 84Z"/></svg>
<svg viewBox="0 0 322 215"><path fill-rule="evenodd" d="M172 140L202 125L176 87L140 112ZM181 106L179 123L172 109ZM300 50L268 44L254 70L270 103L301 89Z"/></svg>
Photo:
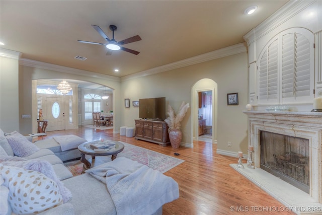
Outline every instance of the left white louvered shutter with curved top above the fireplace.
<svg viewBox="0 0 322 215"><path fill-rule="evenodd" d="M264 51L258 70L258 104L276 102L278 99L278 40L274 40Z"/></svg>

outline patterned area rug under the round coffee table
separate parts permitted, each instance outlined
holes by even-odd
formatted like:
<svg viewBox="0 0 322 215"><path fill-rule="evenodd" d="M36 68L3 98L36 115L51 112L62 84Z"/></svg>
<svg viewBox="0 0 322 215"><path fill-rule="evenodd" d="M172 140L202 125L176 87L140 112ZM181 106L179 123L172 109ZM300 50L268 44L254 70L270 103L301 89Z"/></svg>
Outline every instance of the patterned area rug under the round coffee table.
<svg viewBox="0 0 322 215"><path fill-rule="evenodd" d="M153 170L158 170L160 173L165 173L184 162L184 160L133 146L131 144L127 144L126 142L122 142L122 144L124 144L124 150L119 153L117 157L125 157L133 161L137 161ZM86 158L90 159L91 156L87 156ZM101 158L104 158L106 162L111 161L111 156L97 157L97 159ZM81 161L70 161L64 163L64 165L69 169L73 176L82 174L83 163Z"/></svg>

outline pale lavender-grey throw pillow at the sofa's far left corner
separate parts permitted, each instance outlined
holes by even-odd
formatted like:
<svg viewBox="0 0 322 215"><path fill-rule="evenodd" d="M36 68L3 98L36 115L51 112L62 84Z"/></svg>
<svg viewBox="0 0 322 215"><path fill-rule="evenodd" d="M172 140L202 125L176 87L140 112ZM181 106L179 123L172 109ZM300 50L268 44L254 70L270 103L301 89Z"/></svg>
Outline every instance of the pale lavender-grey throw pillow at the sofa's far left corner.
<svg viewBox="0 0 322 215"><path fill-rule="evenodd" d="M6 136L13 152L19 157L29 156L39 150L39 148L28 141L28 139L17 131Z"/></svg>

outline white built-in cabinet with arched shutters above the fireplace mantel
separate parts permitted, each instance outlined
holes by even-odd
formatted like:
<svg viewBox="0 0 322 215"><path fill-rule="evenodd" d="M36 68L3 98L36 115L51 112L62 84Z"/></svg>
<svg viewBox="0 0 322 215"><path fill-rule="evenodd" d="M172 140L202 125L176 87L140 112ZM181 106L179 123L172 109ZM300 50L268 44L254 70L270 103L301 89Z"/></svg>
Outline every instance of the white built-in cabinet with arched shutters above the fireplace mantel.
<svg viewBox="0 0 322 215"><path fill-rule="evenodd" d="M244 39L254 107L311 105L322 97L322 1L290 1Z"/></svg>

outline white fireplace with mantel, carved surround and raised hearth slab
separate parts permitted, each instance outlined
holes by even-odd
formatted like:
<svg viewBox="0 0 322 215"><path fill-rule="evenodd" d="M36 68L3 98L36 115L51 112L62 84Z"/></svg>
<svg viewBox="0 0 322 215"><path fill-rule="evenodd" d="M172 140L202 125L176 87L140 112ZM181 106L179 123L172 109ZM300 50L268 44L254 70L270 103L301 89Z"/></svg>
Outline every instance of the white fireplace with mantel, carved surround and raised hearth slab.
<svg viewBox="0 0 322 215"><path fill-rule="evenodd" d="M322 113L268 111L244 111L244 113L248 115L249 120L249 142L254 147L252 157L255 169L250 169L247 165L244 169L237 168L236 164L230 166L284 205L293 208L292 210L297 214L303 214L304 211L295 211L296 208L304 208L304 210L306 208L306 212L310 206L322 208ZM269 136L271 134L273 137L265 140L264 145L268 144L270 148L276 148L274 141L272 141L274 139L283 139L285 143L278 146L280 148L278 151L269 150L272 155L265 157L265 153L261 154L263 150L261 139L263 140L263 135ZM294 140L295 143L289 144L288 141L291 140ZM293 150L293 147L298 149ZM281 150L282 148L284 150ZM294 162L286 164L288 161L285 161L285 159L287 160L290 157ZM296 181L300 186L282 180L280 172L291 172L294 171L294 168L284 170L279 168L283 165L300 166L298 163L302 166L297 168L297 172L291 174L294 177L289 177L288 174L283 175L289 181ZM268 166L277 174L269 173L263 170L261 166ZM279 168L277 168L278 166ZM314 212L311 211L311 214L314 214ZM317 213L321 214L321 210L315 212L315 214Z"/></svg>

